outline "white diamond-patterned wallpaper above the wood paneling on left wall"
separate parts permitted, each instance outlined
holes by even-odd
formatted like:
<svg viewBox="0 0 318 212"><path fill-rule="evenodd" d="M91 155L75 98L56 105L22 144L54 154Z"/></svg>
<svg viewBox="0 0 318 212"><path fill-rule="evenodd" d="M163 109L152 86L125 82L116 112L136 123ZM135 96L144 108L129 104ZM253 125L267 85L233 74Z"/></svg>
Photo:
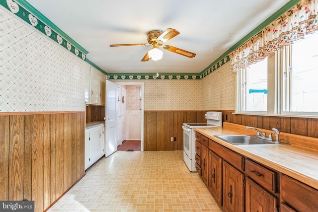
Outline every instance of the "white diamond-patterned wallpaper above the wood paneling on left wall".
<svg viewBox="0 0 318 212"><path fill-rule="evenodd" d="M84 66L0 6L0 112L84 111Z"/></svg>

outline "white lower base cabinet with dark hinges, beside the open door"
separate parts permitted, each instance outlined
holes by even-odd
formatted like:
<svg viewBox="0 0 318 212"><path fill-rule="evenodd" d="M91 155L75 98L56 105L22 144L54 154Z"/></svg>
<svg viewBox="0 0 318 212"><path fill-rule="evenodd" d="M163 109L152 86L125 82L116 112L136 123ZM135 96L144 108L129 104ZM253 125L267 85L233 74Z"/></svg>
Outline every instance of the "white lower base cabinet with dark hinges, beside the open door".
<svg viewBox="0 0 318 212"><path fill-rule="evenodd" d="M85 130L85 170L105 154L105 125Z"/></svg>

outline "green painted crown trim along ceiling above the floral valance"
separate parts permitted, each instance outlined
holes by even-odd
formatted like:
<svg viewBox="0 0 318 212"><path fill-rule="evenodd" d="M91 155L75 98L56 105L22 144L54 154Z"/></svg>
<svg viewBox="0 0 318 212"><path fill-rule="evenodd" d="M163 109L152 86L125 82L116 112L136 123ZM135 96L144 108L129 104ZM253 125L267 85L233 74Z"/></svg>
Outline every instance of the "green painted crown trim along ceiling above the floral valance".
<svg viewBox="0 0 318 212"><path fill-rule="evenodd" d="M253 36L258 34L262 29L264 29L268 24L279 18L282 14L284 14L286 11L288 11L290 8L295 6L300 0L290 0L287 2L284 6L282 6L280 9L278 9L274 14L269 16L265 21L263 21L260 25L258 25L255 29L253 29L251 32L249 32L247 35L245 35L242 39L239 40L234 46L232 46L228 51L226 51L223 55L221 55L218 59L216 59L212 64L210 64L207 68L205 68L203 71L200 72L200 74L203 74L204 72L208 71L219 63L221 60L226 58L231 52L239 48L241 45L243 45L246 41L251 39Z"/></svg>

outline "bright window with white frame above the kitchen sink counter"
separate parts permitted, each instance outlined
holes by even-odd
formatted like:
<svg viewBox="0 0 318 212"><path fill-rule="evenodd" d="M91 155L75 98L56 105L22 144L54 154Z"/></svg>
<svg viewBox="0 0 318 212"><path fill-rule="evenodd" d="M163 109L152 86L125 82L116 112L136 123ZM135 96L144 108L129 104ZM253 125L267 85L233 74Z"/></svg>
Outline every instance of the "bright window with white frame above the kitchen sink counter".
<svg viewBox="0 0 318 212"><path fill-rule="evenodd" d="M239 113L318 115L318 33L238 72Z"/></svg>

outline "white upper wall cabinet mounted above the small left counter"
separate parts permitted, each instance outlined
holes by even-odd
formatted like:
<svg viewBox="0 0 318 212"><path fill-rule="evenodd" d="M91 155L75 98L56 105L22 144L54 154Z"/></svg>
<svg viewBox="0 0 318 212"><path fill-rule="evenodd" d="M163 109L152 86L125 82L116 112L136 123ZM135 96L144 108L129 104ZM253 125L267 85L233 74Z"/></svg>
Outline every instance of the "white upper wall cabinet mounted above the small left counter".
<svg viewBox="0 0 318 212"><path fill-rule="evenodd" d="M106 75L92 66L85 70L85 102L105 105Z"/></svg>

